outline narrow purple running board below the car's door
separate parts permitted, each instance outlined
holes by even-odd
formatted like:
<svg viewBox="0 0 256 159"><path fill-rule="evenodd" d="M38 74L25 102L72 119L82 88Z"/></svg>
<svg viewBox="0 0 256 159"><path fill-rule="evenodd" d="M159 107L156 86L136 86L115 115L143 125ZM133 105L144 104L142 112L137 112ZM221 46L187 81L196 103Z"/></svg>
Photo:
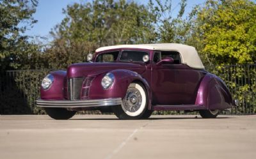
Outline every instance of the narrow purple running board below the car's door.
<svg viewBox="0 0 256 159"><path fill-rule="evenodd" d="M204 105L153 105L153 110L202 110Z"/></svg>

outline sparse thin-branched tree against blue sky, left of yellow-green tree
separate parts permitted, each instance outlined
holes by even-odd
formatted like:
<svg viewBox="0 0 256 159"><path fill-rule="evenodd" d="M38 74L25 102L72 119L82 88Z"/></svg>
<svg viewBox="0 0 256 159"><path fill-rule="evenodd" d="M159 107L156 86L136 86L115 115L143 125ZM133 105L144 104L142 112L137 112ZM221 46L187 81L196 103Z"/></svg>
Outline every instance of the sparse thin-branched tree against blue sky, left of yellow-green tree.
<svg viewBox="0 0 256 159"><path fill-rule="evenodd" d="M150 0L148 7L150 12L157 18L157 42L162 43L183 43L189 27L184 19L184 11L187 0L180 0L173 7L172 0ZM179 12L173 16L173 12L179 7Z"/></svg>

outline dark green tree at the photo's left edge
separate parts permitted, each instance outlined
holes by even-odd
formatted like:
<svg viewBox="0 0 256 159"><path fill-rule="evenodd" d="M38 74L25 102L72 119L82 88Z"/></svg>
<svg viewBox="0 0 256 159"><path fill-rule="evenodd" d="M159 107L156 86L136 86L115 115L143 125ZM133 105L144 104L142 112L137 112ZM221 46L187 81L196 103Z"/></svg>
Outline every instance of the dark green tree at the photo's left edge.
<svg viewBox="0 0 256 159"><path fill-rule="evenodd" d="M36 22L32 15L37 3L37 0L0 1L0 72L23 68L24 62L28 64L29 58L38 50L37 45L29 43L28 36L24 35Z"/></svg>

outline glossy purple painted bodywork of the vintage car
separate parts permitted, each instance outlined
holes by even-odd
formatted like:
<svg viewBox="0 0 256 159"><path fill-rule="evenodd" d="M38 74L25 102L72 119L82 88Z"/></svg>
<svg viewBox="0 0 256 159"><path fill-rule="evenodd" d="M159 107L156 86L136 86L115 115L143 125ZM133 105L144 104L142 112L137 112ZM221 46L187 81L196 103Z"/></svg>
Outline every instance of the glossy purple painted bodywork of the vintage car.
<svg viewBox="0 0 256 159"><path fill-rule="evenodd" d="M186 64L152 63L153 50L145 49L113 49L147 51L148 63L116 61L115 63L77 63L68 66L66 72L51 72L54 83L51 88L41 89L41 98L64 100L63 89L65 77L95 77L90 87L90 99L124 98L129 84L140 81L147 90L148 109L154 110L198 110L225 109L232 106L231 95L223 81L205 72L190 68ZM97 52L95 58L103 52ZM120 55L119 55L120 56ZM168 60L170 62L170 60ZM106 73L115 75L115 81L109 89L102 89L101 80ZM154 106L151 106L151 103Z"/></svg>

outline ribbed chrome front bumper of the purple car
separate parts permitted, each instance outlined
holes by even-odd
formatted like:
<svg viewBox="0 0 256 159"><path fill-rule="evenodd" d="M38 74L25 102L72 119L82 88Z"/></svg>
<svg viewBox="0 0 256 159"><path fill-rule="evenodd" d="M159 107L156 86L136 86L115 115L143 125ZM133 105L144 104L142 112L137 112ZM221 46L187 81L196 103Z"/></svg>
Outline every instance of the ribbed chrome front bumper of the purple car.
<svg viewBox="0 0 256 159"><path fill-rule="evenodd" d="M110 105L121 105L122 98L107 98L100 100L36 100L37 107L60 107L60 108L79 108L79 107L104 107Z"/></svg>

